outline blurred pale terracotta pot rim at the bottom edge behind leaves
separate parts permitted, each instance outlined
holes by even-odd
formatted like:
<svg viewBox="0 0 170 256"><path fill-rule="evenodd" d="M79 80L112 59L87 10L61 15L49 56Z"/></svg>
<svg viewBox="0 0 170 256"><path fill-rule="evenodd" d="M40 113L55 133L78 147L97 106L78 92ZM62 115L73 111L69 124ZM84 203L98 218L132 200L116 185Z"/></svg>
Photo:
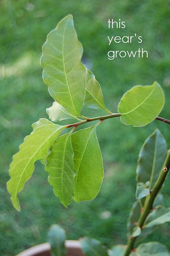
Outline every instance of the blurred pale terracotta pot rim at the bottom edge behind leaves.
<svg viewBox="0 0 170 256"><path fill-rule="evenodd" d="M65 245L67 248L79 248L81 249L80 242L78 240L66 240ZM40 252L49 252L50 251L50 244L43 243L38 244L36 246L33 246L27 250L24 250L23 252L20 252L16 256L34 256L36 253Z"/></svg>

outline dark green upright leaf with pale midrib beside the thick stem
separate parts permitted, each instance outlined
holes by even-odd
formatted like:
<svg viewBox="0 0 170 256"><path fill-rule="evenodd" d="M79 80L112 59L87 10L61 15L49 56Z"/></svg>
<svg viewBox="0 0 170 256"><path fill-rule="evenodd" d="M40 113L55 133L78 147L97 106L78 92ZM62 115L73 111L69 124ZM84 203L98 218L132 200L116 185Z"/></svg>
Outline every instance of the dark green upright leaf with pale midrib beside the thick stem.
<svg viewBox="0 0 170 256"><path fill-rule="evenodd" d="M166 141L160 131L156 129L145 140L139 152L136 180L143 183L149 180L149 189L151 189L158 178L166 155Z"/></svg>

